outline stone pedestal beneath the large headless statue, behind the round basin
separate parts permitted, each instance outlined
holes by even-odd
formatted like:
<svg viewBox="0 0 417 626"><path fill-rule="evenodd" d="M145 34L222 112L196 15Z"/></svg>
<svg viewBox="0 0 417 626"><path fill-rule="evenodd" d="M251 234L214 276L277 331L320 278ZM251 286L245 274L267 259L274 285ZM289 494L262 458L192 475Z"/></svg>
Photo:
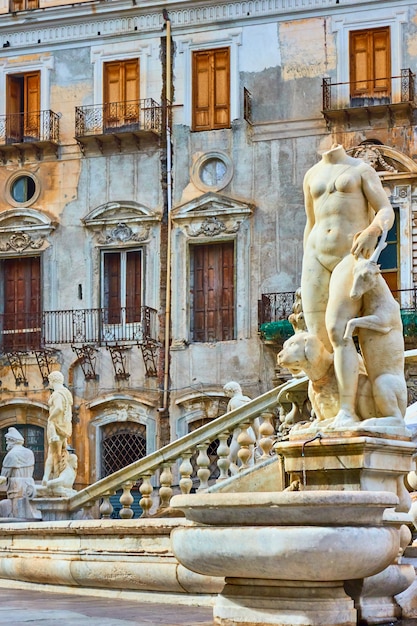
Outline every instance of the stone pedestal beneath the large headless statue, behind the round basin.
<svg viewBox="0 0 417 626"><path fill-rule="evenodd" d="M369 433L327 432L322 433L320 439L309 439L311 434L295 431L290 441L276 446L276 452L284 457L285 472L291 481L300 481L301 489L368 492L383 489L398 496L397 511L408 513L411 498L404 477L414 465L414 443L408 438L387 438L376 433L370 436ZM382 624L401 616L394 596L407 589L415 577L413 568L401 563L409 539L410 533L403 526L402 549L390 567L360 584L347 587L360 617L368 624Z"/></svg>

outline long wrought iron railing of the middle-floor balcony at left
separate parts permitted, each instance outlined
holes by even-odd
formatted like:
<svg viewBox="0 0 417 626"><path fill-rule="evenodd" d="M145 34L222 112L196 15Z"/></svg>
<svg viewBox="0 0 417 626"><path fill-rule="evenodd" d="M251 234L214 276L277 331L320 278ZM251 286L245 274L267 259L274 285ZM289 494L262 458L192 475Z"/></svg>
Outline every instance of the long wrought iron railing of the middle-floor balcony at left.
<svg viewBox="0 0 417 626"><path fill-rule="evenodd" d="M40 350L60 344L108 345L156 340L157 312L139 309L76 309L0 315L2 352Z"/></svg>

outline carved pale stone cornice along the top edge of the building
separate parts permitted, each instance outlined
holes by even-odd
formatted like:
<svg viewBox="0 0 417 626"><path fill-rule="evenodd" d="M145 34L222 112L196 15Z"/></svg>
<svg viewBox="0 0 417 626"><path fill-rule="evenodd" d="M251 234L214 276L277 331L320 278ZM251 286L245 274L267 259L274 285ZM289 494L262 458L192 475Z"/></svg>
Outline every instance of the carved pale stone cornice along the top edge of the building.
<svg viewBox="0 0 417 626"><path fill-rule="evenodd" d="M355 4L369 4L357 0ZM225 24L240 21L253 21L256 18L294 15L305 12L318 12L334 8L334 0L268 0L267 2L248 3L218 2L215 5L195 5L191 2L165 5L169 11L174 30L195 30L196 27ZM95 5L95 19L91 19L91 7L70 4L59 7L45 7L30 12L30 21L26 11L1 15L0 47L9 42L13 49L38 45L59 45L65 42L91 41L100 33L101 37L112 37L140 33L160 33L164 19L160 6L154 10L148 5L142 9L132 8L130 2L110 2ZM39 19L39 23L38 23ZM16 23L17 22L17 23Z"/></svg>

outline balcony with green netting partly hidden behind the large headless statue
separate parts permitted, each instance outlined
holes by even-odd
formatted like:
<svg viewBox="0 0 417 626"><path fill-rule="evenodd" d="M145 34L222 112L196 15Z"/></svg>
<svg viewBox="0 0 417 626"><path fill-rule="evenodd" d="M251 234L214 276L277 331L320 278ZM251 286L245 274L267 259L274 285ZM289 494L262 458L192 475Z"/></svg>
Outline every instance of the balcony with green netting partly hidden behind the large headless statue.
<svg viewBox="0 0 417 626"><path fill-rule="evenodd" d="M392 292L401 308L406 348L417 348L417 287ZM264 293L258 300L258 329L265 344L282 345L294 334L288 321L293 312L295 292Z"/></svg>

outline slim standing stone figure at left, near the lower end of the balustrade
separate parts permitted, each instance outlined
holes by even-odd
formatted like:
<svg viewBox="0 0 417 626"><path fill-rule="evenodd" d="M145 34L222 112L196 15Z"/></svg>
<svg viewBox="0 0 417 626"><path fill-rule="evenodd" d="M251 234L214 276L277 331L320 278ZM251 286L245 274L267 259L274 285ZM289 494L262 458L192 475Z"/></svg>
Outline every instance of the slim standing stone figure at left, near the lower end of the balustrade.
<svg viewBox="0 0 417 626"><path fill-rule="evenodd" d="M49 417L47 424L48 455L42 486L59 479L64 470L71 469L68 451L68 440L72 435L72 395L64 387L64 377L61 372L54 371L48 376L52 394L49 398Z"/></svg>

